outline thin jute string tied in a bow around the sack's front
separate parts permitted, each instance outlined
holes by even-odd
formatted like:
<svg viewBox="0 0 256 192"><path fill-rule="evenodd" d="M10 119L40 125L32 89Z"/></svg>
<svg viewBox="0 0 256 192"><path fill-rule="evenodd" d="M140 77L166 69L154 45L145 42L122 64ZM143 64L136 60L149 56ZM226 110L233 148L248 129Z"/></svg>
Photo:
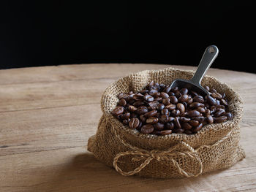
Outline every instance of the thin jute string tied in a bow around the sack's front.
<svg viewBox="0 0 256 192"><path fill-rule="evenodd" d="M179 142L177 145L170 147L168 150L163 150L163 151L150 150L150 151L148 151L148 150L143 150L139 147L129 145L128 142L125 142L124 139L121 139L121 137L117 134L116 129L114 127L113 127L113 131L114 131L116 137L119 139L119 141L123 145L132 149L132 150L127 150L125 152L118 153L113 161L113 166L115 167L116 171L124 176L130 176L130 175L140 172L153 159L156 159L157 161L162 161L162 160L172 161L173 165L177 168L178 172L181 175L184 175L186 177L197 177L198 175L202 174L202 172L203 172L203 164L202 164L202 161L200 160L199 156L197 155L197 151L202 147L213 147L213 146L219 145L219 143L223 142L225 139L227 139L231 133L231 131L230 131L225 137L223 137L219 141L215 142L213 145L203 145L203 146L198 147L196 150L193 147L191 147L190 145L188 145L186 142ZM181 147L185 147L186 150L179 151L181 149ZM118 160L119 160L119 158L121 158L122 156L125 156L125 155L136 155L136 156L140 155L139 157L132 158L132 161L141 161L145 158L146 158L146 160L142 164L140 164L140 166L138 166L136 169L134 169L133 171L124 172L118 166ZM189 158L195 159L197 161L197 163L199 164L199 169L198 169L197 173L192 174L189 172L185 172L184 169L181 169L181 166L178 164L178 162L173 159L173 156L177 156L177 155L188 156Z"/></svg>

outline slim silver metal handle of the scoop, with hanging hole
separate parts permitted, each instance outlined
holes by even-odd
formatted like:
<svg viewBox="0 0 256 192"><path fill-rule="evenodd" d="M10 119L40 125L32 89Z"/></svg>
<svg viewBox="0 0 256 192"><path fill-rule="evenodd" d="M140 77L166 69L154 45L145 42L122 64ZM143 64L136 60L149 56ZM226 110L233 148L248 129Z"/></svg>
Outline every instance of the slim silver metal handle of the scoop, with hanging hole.
<svg viewBox="0 0 256 192"><path fill-rule="evenodd" d="M203 57L201 58L200 64L197 67L197 71L190 81L193 83L200 85L203 76L206 74L207 70L214 62L215 58L219 53L218 48L215 45L210 45L206 48L205 53L203 53Z"/></svg>

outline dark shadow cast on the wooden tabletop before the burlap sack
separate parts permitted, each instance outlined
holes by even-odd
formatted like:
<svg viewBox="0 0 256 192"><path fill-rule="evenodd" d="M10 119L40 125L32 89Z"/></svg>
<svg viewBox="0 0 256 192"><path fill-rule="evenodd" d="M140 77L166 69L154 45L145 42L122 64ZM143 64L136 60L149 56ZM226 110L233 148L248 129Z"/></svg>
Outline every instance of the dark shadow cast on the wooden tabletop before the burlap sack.
<svg viewBox="0 0 256 192"><path fill-rule="evenodd" d="M206 177L216 173L180 180L124 177L97 161L92 153L84 153L75 156L68 166L56 173L53 180L36 188L36 191L187 191L188 188L197 191L195 186L205 185Z"/></svg>

